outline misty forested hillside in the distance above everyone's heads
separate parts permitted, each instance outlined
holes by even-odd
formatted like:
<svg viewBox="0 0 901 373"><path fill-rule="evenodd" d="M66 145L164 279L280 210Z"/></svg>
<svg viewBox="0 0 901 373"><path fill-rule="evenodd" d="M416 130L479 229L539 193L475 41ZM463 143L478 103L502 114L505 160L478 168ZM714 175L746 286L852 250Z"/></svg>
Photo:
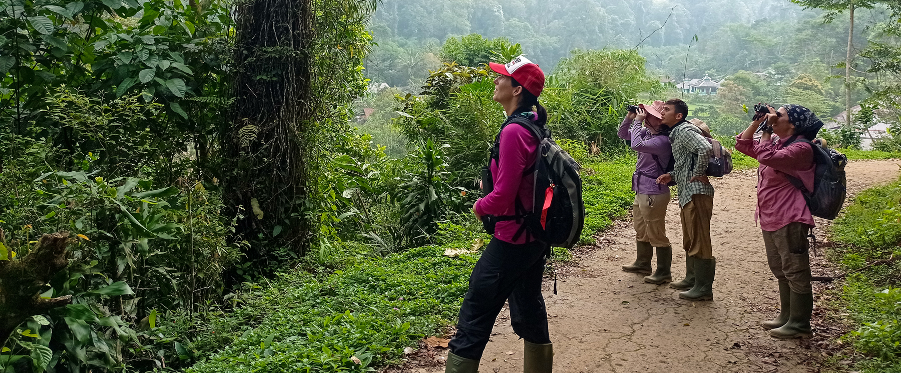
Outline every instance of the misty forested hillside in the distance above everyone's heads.
<svg viewBox="0 0 901 373"><path fill-rule="evenodd" d="M662 76L682 77L685 68L688 77L770 67L788 73L799 65L794 69L824 78L843 71L827 67L845 58L848 21L824 23L823 13L786 0L385 0L369 26L378 46L367 76L406 86L440 65L448 38L478 33L521 43L549 72L573 49L640 45L648 68ZM885 19L885 11L861 10L858 30ZM866 41L867 32L857 32L857 48Z"/></svg>

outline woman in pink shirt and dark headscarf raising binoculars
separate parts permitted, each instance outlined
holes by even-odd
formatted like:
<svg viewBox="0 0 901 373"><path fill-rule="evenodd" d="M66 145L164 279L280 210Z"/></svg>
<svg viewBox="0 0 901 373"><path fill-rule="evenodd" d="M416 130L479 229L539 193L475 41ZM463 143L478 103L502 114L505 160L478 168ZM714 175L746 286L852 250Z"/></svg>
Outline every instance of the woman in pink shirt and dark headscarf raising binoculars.
<svg viewBox="0 0 901 373"><path fill-rule="evenodd" d="M767 126L760 141L754 140L754 133L764 122ZM814 294L807 232L815 223L804 195L789 178L814 190L814 150L797 140L815 139L822 126L810 109L783 105L778 111L769 107L769 114L756 115L736 137L735 150L760 161L755 220L763 231L769 269L778 279L781 304L778 317L762 325L779 338L811 335ZM773 134L778 136L777 141L773 141Z"/></svg>

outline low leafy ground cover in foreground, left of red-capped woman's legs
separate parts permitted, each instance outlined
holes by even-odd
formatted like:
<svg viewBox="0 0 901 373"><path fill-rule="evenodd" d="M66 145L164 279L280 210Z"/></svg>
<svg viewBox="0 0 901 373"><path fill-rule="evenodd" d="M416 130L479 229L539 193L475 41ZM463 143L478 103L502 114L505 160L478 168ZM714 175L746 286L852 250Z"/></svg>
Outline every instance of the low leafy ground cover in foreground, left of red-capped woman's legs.
<svg viewBox="0 0 901 373"><path fill-rule="evenodd" d="M331 274L288 274L243 298L255 327L222 325L233 342L188 371L365 372L441 335L460 309L476 256L429 246L363 259ZM360 360L359 364L353 357Z"/></svg>

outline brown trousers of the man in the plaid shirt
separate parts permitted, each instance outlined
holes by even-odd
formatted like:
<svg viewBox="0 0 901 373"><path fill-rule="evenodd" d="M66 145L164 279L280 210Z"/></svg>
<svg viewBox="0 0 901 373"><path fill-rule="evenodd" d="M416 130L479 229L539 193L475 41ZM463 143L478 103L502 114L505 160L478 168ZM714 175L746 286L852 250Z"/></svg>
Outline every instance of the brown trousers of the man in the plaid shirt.
<svg viewBox="0 0 901 373"><path fill-rule="evenodd" d="M714 257L710 242L710 219L714 216L714 197L692 195L691 201L682 207L682 249L686 255L699 259Z"/></svg>

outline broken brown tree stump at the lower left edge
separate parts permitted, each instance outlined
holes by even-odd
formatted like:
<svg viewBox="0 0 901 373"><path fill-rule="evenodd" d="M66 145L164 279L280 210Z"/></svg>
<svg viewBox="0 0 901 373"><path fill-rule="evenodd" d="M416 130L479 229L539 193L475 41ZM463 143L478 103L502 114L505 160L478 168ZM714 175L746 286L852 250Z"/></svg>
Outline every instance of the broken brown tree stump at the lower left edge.
<svg viewBox="0 0 901 373"><path fill-rule="evenodd" d="M68 232L44 234L23 259L0 259L0 346L29 317L72 303L72 296L41 298L41 287L68 266Z"/></svg>

